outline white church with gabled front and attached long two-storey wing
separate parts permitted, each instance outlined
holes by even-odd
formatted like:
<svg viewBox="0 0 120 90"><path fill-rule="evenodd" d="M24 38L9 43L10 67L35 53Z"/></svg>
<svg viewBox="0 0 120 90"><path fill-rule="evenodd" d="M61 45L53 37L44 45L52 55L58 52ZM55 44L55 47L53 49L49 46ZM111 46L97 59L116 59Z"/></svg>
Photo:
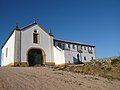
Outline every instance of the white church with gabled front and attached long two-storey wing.
<svg viewBox="0 0 120 90"><path fill-rule="evenodd" d="M36 22L16 26L1 49L1 66L79 64L96 59L95 46L54 39Z"/></svg>

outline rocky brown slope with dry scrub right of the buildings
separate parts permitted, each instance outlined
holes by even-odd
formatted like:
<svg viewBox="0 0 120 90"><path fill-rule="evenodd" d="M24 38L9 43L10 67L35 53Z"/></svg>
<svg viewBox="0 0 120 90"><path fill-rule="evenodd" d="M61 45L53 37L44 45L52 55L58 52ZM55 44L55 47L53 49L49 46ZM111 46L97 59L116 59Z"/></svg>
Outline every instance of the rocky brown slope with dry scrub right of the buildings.
<svg viewBox="0 0 120 90"><path fill-rule="evenodd" d="M92 60L82 65L68 65L62 70L120 80L120 57Z"/></svg>

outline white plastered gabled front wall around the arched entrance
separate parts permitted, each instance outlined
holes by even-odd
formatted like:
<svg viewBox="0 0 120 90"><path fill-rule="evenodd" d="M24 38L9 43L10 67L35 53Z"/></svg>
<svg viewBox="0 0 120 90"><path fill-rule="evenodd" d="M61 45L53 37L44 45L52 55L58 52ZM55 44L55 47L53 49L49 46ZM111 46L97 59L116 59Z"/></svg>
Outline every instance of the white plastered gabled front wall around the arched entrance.
<svg viewBox="0 0 120 90"><path fill-rule="evenodd" d="M33 43L33 33L37 30L40 35L40 43ZM40 48L46 54L46 62L51 62L51 36L43 31L38 25L32 26L26 30L21 31L21 62L27 62L27 51L30 48Z"/></svg>

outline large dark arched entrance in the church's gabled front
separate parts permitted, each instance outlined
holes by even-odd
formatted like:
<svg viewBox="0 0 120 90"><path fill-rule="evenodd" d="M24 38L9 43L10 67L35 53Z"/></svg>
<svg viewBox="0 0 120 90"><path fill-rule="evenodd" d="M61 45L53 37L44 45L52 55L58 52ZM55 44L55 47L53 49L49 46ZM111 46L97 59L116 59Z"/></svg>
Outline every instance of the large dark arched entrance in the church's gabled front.
<svg viewBox="0 0 120 90"><path fill-rule="evenodd" d="M41 49L30 49L28 51L29 66L45 64L45 55Z"/></svg>

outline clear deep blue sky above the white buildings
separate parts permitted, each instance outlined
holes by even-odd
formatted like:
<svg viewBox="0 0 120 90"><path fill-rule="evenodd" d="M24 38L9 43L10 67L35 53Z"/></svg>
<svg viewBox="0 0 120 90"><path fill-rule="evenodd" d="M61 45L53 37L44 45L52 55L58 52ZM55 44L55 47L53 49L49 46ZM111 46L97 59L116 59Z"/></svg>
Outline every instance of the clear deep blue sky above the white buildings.
<svg viewBox="0 0 120 90"><path fill-rule="evenodd" d="M95 45L98 58L120 55L120 0L0 0L0 47L33 18L55 38Z"/></svg>

